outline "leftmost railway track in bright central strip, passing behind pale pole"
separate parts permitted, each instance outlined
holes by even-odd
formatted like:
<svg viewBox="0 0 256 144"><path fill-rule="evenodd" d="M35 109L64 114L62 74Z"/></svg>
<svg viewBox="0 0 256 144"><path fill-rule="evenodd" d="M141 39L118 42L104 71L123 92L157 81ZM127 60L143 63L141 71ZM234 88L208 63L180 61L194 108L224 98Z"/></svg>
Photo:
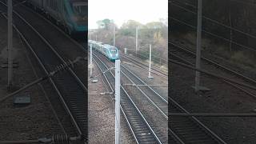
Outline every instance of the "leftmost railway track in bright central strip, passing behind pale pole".
<svg viewBox="0 0 256 144"><path fill-rule="evenodd" d="M94 54L94 62L102 72L110 69L96 54ZM109 83L110 91L114 91L114 74L108 71L104 74L104 77L106 83ZM122 114L126 118L135 141L137 143L162 143L123 86L121 86L121 95Z"/></svg>

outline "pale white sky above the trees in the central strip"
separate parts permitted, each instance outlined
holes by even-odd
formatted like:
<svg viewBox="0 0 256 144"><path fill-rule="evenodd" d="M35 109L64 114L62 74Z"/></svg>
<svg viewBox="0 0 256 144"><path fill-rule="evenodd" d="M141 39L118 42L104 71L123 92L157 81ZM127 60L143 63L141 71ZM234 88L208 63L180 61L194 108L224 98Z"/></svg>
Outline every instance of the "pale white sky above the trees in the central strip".
<svg viewBox="0 0 256 144"><path fill-rule="evenodd" d="M168 17L168 0L88 0L89 29L98 28L97 21L113 19L118 27L127 20L146 24Z"/></svg>

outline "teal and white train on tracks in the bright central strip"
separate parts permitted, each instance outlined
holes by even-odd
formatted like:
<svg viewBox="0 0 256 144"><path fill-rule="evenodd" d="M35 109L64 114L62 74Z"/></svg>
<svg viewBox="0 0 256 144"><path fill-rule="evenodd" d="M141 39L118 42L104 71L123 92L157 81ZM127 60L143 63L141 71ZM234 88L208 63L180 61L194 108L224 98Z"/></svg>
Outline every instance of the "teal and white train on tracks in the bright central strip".
<svg viewBox="0 0 256 144"><path fill-rule="evenodd" d="M104 44L103 42L96 42L93 40L88 40L88 46L94 50L97 50L99 53L103 54L108 58L111 62L114 62L116 59L119 59L118 48L115 46L111 46L109 44Z"/></svg>

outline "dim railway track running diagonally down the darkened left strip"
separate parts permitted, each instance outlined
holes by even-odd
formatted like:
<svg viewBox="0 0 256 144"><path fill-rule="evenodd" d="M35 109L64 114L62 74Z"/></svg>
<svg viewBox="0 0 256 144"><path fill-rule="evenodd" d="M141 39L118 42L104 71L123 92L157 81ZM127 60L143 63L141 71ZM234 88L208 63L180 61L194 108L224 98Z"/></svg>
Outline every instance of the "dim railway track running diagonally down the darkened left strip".
<svg viewBox="0 0 256 144"><path fill-rule="evenodd" d="M2 11L6 11L6 4L0 2ZM26 11L26 10L24 10ZM23 12L24 13L24 12ZM22 17L22 13L14 10L14 25L18 29L19 34L30 48L34 57L38 60L39 66L45 74L56 70L57 66L68 63L69 57L63 56L57 50L56 43L52 44L45 35L40 33L26 18ZM35 21L34 17L30 17L30 21ZM58 94L59 101L62 102L66 110L66 114L71 119L76 131L76 136L86 141L86 86L74 71L76 69L68 69L61 74L57 74L54 78L50 78L50 83ZM84 72L84 71L83 71ZM80 73L81 74L81 73ZM70 134L73 135L73 134Z"/></svg>

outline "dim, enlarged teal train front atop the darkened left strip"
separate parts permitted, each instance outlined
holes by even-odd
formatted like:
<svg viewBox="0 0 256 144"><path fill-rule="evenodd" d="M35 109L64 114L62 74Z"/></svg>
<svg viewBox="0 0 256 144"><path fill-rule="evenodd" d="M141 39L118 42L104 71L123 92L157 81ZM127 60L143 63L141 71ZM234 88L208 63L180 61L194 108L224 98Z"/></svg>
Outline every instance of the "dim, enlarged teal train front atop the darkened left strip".
<svg viewBox="0 0 256 144"><path fill-rule="evenodd" d="M88 3L85 0L27 0L26 4L53 19L67 34L86 35Z"/></svg>

